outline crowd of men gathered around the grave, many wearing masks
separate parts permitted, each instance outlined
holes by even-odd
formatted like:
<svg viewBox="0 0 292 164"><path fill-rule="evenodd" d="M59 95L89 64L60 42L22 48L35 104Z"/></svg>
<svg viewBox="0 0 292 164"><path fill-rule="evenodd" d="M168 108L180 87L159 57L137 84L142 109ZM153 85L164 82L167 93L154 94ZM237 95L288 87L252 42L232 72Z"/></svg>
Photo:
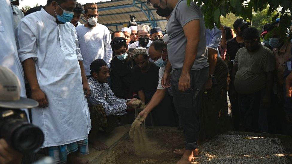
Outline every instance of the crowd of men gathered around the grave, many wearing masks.
<svg viewBox="0 0 292 164"><path fill-rule="evenodd" d="M179 164L229 129L291 135L292 40L274 30L279 19L261 34L242 18L208 29L193 1L147 0L168 20L165 33L133 21L110 33L96 3L48 0L27 11L18 0L0 4L0 65L18 77L20 97L39 103L22 110L42 129L55 163L89 163L79 154L107 149L98 135L132 123L138 99L146 125L183 130ZM0 109L12 108L1 102L15 99L2 97L9 95L0 96ZM0 163L20 162L8 149L0 140Z"/></svg>

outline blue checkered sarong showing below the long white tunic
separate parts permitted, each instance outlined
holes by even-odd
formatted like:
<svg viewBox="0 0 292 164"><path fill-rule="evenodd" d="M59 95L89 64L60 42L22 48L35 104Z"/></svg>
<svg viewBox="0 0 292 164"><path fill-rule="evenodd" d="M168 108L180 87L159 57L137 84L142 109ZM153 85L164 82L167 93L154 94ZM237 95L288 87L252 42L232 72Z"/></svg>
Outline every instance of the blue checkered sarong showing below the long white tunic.
<svg viewBox="0 0 292 164"><path fill-rule="evenodd" d="M48 156L54 159L54 163L66 163L67 155L77 151L78 149L80 154L89 154L88 138L66 145L47 147L46 152Z"/></svg>

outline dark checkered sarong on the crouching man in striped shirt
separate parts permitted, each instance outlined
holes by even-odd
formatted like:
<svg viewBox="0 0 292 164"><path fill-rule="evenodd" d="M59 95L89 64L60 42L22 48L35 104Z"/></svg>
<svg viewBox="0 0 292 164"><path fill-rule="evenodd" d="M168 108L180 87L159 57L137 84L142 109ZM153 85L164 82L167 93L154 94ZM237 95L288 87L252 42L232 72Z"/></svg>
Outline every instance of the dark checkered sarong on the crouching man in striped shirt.
<svg viewBox="0 0 292 164"><path fill-rule="evenodd" d="M100 104L91 106L89 108L91 126L92 128L107 127L107 115L104 111L104 107Z"/></svg>

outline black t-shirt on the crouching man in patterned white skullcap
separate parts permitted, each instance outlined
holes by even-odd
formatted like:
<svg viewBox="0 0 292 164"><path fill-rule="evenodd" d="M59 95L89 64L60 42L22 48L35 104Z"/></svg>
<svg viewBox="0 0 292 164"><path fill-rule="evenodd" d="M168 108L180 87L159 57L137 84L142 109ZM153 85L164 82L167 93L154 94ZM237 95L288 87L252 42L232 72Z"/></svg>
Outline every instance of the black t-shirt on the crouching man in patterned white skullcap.
<svg viewBox="0 0 292 164"><path fill-rule="evenodd" d="M158 86L159 67L150 62L147 73L142 73L138 65L132 70L132 90L133 91L156 91Z"/></svg>

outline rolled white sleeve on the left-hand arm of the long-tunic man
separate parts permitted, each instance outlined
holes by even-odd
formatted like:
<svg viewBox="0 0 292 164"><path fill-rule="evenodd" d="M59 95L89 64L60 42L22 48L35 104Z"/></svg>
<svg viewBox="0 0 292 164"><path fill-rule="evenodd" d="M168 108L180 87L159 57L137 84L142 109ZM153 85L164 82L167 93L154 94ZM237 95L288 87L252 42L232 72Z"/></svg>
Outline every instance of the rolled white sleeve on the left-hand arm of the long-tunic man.
<svg viewBox="0 0 292 164"><path fill-rule="evenodd" d="M38 57L36 55L36 30L34 26L22 20L16 28L16 35L19 44L18 54L20 62L29 58L33 58L36 61Z"/></svg>

